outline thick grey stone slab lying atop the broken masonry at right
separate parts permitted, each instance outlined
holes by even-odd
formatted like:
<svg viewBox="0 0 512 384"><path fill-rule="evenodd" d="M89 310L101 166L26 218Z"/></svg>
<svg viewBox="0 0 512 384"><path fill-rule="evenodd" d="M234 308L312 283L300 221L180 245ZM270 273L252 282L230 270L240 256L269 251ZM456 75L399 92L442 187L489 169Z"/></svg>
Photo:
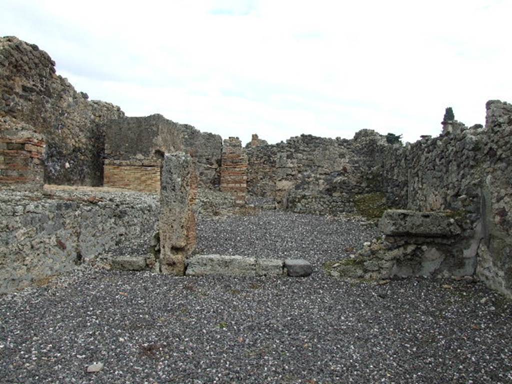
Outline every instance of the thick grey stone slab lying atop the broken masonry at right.
<svg viewBox="0 0 512 384"><path fill-rule="evenodd" d="M391 209L384 212L379 229L388 236L453 237L461 233L445 212Z"/></svg>

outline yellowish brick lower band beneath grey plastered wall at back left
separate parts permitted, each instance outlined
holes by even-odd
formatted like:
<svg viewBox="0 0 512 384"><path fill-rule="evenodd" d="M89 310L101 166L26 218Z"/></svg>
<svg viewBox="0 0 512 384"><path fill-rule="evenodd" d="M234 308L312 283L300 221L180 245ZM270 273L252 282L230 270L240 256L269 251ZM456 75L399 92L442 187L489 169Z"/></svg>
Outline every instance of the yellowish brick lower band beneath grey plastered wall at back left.
<svg viewBox="0 0 512 384"><path fill-rule="evenodd" d="M160 191L160 164L108 161L103 168L103 186L140 192Z"/></svg>

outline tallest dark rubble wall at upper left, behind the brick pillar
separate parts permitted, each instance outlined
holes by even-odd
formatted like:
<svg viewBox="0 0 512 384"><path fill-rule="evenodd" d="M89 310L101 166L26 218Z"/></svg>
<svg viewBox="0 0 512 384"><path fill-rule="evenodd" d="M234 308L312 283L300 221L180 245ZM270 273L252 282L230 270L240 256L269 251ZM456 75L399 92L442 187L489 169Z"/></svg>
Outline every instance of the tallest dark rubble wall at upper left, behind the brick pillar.
<svg viewBox="0 0 512 384"><path fill-rule="evenodd" d="M55 74L46 52L16 37L0 38L0 95L0 117L30 124L46 137L46 182L101 184L102 124L123 116L119 107L89 101Z"/></svg>

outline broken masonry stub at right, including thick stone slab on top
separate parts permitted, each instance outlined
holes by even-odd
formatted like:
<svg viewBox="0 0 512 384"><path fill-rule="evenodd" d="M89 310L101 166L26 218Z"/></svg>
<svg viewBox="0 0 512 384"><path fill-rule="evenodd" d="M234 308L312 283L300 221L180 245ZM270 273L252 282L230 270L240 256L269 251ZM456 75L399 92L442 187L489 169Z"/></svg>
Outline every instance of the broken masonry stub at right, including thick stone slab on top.
<svg viewBox="0 0 512 384"><path fill-rule="evenodd" d="M379 221L385 236L332 263L330 272L356 279L472 276L480 238L464 233L457 220L451 212L388 210Z"/></svg>

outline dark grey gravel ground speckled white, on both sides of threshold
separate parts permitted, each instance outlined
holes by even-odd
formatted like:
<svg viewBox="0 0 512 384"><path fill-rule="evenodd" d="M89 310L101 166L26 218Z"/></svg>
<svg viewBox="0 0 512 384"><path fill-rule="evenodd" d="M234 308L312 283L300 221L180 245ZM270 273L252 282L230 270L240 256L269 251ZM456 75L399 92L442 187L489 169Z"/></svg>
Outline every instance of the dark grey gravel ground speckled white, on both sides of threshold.
<svg viewBox="0 0 512 384"><path fill-rule="evenodd" d="M502 296L471 281L351 285L320 270L374 234L278 212L208 220L201 253L303 257L317 270L172 278L82 267L4 295L0 382L512 382L512 304ZM87 373L93 362L104 368Z"/></svg>

